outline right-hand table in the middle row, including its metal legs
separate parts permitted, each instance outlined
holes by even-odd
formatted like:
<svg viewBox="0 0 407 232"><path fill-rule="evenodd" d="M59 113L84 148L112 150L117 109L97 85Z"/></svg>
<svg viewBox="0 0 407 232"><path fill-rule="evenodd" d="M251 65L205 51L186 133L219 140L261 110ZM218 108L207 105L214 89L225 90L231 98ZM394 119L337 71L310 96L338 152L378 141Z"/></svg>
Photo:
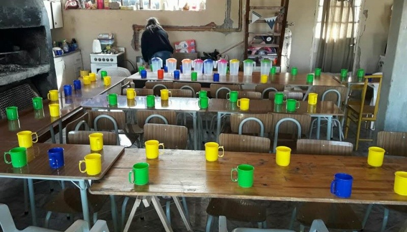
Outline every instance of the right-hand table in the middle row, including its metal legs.
<svg viewBox="0 0 407 232"><path fill-rule="evenodd" d="M246 113L246 114L267 114L267 113L284 113L284 114L308 114L311 117L317 117L318 128L321 125L321 118L325 117L328 119L327 125L327 140L331 140L331 126L332 118L334 116L343 116L343 112L338 106L333 102L319 101L316 107L311 107L308 102L300 102L300 108L295 112L287 112L285 103L282 105L275 105L274 101L270 100L250 100L249 110L241 111L237 107L236 103L230 103L226 99L212 98L209 101L208 112L217 113L217 128L216 135L219 141L220 128L221 128L221 118L225 115L230 115L232 113ZM319 139L319 129L317 130L317 139Z"/></svg>

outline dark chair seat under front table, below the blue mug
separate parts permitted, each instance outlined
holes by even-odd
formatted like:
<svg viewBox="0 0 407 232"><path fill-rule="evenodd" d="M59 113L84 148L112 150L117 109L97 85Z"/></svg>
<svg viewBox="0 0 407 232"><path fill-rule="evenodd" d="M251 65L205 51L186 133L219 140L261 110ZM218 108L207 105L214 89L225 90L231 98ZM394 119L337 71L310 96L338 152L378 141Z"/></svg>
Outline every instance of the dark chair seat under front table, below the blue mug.
<svg viewBox="0 0 407 232"><path fill-rule="evenodd" d="M322 219L331 229L362 229L362 223L349 204L304 203L298 211L297 220L310 226L314 219Z"/></svg>

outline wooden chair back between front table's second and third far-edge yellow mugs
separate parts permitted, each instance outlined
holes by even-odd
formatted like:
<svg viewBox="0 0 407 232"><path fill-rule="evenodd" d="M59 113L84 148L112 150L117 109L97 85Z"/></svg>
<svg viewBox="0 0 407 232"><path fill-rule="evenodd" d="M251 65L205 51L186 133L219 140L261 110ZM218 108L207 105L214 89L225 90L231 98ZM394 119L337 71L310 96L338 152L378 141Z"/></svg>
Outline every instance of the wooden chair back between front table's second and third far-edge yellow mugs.
<svg viewBox="0 0 407 232"><path fill-rule="evenodd" d="M270 139L264 137L222 133L219 135L219 144L225 151L259 153L270 151Z"/></svg>

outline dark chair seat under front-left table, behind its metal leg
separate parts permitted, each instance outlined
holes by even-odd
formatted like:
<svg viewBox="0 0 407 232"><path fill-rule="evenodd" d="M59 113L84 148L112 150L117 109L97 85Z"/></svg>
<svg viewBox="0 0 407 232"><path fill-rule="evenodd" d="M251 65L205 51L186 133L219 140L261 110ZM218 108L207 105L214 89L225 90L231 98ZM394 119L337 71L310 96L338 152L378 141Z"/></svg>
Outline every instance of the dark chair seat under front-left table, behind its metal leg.
<svg viewBox="0 0 407 232"><path fill-rule="evenodd" d="M107 200L107 195L93 195L89 192L88 202L89 210L91 212L98 212L103 204ZM74 214L82 213L82 203L80 197L80 191L78 188L66 188L56 196L52 198L51 201L44 205L46 211Z"/></svg>

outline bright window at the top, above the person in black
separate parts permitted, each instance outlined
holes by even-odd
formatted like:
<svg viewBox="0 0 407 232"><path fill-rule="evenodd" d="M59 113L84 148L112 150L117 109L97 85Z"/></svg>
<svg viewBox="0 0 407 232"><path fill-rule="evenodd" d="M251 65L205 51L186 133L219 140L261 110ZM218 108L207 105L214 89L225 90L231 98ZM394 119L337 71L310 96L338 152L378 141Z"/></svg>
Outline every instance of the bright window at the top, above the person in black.
<svg viewBox="0 0 407 232"><path fill-rule="evenodd" d="M203 11L206 0L121 0L123 6L135 6L143 10ZM141 7L142 6L142 7Z"/></svg>

